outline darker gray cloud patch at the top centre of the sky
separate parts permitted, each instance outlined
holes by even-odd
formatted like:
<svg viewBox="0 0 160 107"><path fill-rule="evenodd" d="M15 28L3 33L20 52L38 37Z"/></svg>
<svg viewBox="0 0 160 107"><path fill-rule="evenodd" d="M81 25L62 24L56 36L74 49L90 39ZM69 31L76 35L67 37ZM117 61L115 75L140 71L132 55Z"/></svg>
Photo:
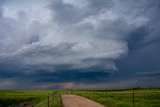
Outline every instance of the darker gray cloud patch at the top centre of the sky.
<svg viewBox="0 0 160 107"><path fill-rule="evenodd" d="M72 0L70 2L54 0L48 7L51 9L53 20L64 25L76 24L84 18L102 13L113 4L111 0L82 0L81 2L84 3L83 8L80 8L81 3L75 5Z"/></svg>

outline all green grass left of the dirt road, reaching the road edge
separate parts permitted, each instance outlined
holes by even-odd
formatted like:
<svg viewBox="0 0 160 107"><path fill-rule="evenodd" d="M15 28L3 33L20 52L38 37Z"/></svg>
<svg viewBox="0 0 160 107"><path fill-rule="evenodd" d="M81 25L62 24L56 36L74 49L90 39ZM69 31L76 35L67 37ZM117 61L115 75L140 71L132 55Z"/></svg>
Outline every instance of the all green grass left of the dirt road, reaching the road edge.
<svg viewBox="0 0 160 107"><path fill-rule="evenodd" d="M54 96L54 97L53 97ZM52 90L0 90L0 107L60 107L60 94Z"/></svg>

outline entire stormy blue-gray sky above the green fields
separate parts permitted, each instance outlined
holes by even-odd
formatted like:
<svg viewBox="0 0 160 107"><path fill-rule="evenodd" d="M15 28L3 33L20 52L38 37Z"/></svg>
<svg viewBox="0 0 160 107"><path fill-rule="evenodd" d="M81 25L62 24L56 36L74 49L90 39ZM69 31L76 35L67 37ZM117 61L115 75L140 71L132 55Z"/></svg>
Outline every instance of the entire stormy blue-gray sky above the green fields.
<svg viewBox="0 0 160 107"><path fill-rule="evenodd" d="M160 86L159 0L0 0L0 89Z"/></svg>

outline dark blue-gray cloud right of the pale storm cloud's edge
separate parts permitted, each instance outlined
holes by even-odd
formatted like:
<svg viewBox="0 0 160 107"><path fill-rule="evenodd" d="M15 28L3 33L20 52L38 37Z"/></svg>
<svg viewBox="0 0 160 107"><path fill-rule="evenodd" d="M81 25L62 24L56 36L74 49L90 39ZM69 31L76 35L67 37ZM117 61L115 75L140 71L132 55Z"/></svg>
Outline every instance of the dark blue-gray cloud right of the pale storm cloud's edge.
<svg viewBox="0 0 160 107"><path fill-rule="evenodd" d="M154 72L160 69L159 1L145 1L141 14L148 17L146 26L136 29L128 38L129 54L119 61L120 70L130 74ZM127 75L127 74L126 74Z"/></svg>

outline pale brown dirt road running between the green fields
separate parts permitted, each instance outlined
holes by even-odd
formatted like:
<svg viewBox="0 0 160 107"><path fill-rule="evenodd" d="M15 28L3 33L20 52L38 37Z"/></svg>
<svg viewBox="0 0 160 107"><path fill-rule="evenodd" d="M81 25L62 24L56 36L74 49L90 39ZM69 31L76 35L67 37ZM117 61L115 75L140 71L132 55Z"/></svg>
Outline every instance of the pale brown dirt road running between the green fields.
<svg viewBox="0 0 160 107"><path fill-rule="evenodd" d="M63 107L104 107L103 105L76 95L62 95Z"/></svg>

